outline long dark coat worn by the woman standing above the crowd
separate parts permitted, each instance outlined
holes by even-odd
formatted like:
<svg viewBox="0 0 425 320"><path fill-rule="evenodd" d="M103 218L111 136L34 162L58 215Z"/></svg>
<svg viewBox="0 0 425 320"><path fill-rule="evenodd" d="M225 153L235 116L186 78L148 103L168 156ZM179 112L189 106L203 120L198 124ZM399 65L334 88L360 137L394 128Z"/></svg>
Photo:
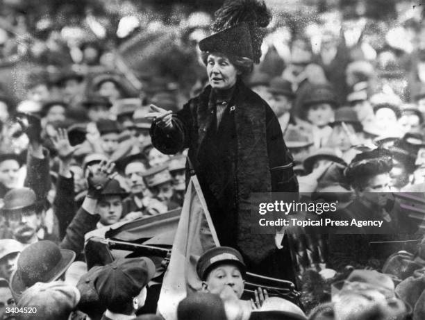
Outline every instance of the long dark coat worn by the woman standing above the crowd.
<svg viewBox="0 0 425 320"><path fill-rule="evenodd" d="M173 115L172 129L154 122L152 143L166 154L189 148L220 244L258 262L274 250L274 239L251 234L251 192L298 192L292 155L272 109L242 81L218 128L212 91L208 85Z"/></svg>

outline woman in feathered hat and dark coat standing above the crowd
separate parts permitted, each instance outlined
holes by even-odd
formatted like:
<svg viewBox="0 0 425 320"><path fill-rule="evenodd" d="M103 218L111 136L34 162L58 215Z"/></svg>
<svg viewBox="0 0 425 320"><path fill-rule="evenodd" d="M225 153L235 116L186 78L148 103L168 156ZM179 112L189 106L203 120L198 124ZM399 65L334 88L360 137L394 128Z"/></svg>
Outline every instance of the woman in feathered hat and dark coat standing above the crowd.
<svg viewBox="0 0 425 320"><path fill-rule="evenodd" d="M243 1L226 1L217 11L216 33L199 42L209 81L203 92L177 114L152 106L147 117L155 119L156 149L174 154L189 148L188 165L199 178L220 244L258 264L274 242L250 233L251 192L298 192L298 185L276 115L242 81L259 62L261 28L271 15L264 3L240 15L242 10Z"/></svg>

